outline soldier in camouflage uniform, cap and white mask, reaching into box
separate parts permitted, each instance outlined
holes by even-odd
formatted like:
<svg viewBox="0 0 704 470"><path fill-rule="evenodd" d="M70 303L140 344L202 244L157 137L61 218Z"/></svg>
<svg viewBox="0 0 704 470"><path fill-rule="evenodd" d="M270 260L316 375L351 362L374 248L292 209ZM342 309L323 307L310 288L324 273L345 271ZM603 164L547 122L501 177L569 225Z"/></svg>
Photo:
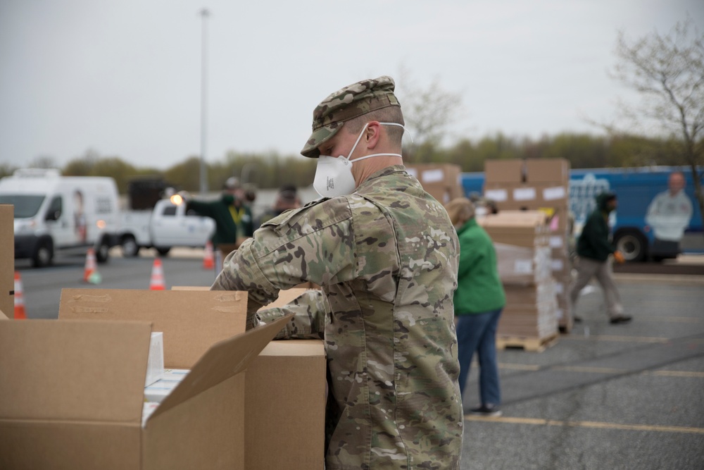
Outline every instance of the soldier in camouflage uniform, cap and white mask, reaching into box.
<svg viewBox="0 0 704 470"><path fill-rule="evenodd" d="M322 101L301 153L320 157L316 189L344 183L321 170L323 159L353 162L352 194L264 223L211 287L249 291L248 328L292 312L278 338L325 340L327 470L459 468L458 240L443 206L403 167L402 125L389 77ZM256 314L304 281L322 290Z"/></svg>

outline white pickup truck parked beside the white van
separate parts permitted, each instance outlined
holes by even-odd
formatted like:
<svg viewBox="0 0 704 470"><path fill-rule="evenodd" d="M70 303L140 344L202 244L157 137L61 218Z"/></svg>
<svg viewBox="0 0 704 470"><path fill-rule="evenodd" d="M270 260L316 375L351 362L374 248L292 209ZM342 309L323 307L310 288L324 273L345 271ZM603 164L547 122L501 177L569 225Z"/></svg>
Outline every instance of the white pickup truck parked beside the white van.
<svg viewBox="0 0 704 470"><path fill-rule="evenodd" d="M204 247L215 231L209 217L186 213L186 204L159 200L151 211L127 211L120 221L123 256L137 256L141 248L166 255L172 247Z"/></svg>

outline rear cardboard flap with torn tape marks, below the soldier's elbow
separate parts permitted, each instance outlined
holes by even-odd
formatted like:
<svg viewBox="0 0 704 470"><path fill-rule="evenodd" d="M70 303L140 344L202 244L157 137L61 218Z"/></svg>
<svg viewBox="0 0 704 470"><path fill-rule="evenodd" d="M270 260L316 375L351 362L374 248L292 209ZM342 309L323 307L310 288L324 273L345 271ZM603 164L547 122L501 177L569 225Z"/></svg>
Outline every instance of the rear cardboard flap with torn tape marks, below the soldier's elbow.
<svg viewBox="0 0 704 470"><path fill-rule="evenodd" d="M59 319L151 321L164 333L164 366L191 369L210 345L244 333L247 293L63 289Z"/></svg>

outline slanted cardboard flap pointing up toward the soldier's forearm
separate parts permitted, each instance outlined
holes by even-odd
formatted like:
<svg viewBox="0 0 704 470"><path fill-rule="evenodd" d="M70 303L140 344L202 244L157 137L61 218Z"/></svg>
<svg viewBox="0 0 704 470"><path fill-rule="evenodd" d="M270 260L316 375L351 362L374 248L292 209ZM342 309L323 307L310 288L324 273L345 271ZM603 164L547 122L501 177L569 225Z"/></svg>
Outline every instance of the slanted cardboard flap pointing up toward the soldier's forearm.
<svg viewBox="0 0 704 470"><path fill-rule="evenodd" d="M214 387L228 378L246 369L247 365L269 344L284 325L293 319L293 314L272 321L265 326L249 330L230 339L215 343L194 364L193 369L183 381L164 399L159 407L149 416L151 419L168 412L169 409L185 402L191 397ZM239 362L232 366L232 359Z"/></svg>

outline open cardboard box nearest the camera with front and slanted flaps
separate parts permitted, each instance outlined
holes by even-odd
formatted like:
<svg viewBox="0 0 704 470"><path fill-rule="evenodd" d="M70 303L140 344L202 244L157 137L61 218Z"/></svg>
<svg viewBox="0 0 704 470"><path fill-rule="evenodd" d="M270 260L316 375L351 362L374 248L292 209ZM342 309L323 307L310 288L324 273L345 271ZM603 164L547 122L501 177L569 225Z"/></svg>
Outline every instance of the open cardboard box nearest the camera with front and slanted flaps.
<svg viewBox="0 0 704 470"><path fill-rule="evenodd" d="M290 319L208 348L144 426L151 323L0 321L0 468L244 468L243 372Z"/></svg>

